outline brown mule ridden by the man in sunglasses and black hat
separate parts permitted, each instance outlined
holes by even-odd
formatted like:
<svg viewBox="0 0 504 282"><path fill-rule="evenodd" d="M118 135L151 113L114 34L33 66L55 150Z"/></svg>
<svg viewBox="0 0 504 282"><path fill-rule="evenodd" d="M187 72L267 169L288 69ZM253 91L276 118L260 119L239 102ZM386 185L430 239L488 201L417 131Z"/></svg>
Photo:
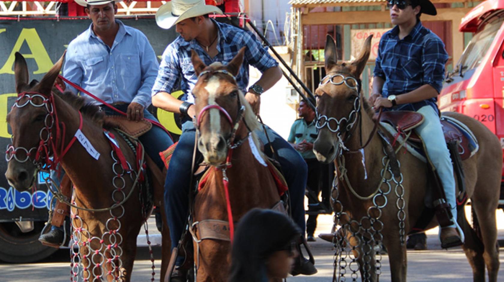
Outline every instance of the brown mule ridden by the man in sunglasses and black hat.
<svg viewBox="0 0 504 282"><path fill-rule="evenodd" d="M321 117L327 118L328 122L322 124L324 120L319 119L320 133L314 142L313 150L319 161L324 163L339 160L336 162L336 166L340 177L336 179L335 183L339 194L333 194L339 203L333 207L336 213L345 213L341 218L342 224L348 223L349 220L359 221L369 217L369 213L376 217L377 210L375 208L372 210L374 206L372 199L366 198L366 196L375 193L377 185L383 181L381 170L384 168L382 163L384 145L379 134L372 134L374 123L371 117L373 111L358 91L360 90L359 77L370 53L370 39L371 37L366 39L364 50L359 57L347 64L337 63L335 42L332 37L328 36L325 48L325 66L327 74L334 77L330 78L332 83L327 83L327 78L323 80L321 86L316 90L318 113ZM487 127L471 117L459 113L445 113L445 115L464 123L474 133L480 145L479 151L471 158L464 160L462 164L466 176L467 196L471 199L472 207L479 220L481 239L477 238L476 233L464 218L461 224L465 233L463 248L473 269L474 281L485 281L486 266L488 281L496 282L499 258L498 248L496 248L495 209L499 198L502 172L502 150L499 140ZM379 129L386 132L381 126ZM390 134L386 135L393 139ZM366 144L368 138L371 138L368 145L362 151L358 151ZM350 151L357 152L351 153ZM399 204L396 203L404 202L404 209L401 212L404 213L402 221L404 237L420 217L428 185L426 165L413 155L402 152L397 154L397 159L400 162L400 172L403 176L404 193L396 194L392 190L387 196L389 204L381 208L380 220L383 226L379 226L382 228L383 242L390 254L392 281L399 282L406 281L407 259L406 245L401 244L400 241L402 219L398 216L397 206ZM341 162L342 157L344 162ZM350 190L350 187L353 188L353 191ZM401 194L401 198L398 194ZM357 195L363 199L358 198ZM370 207L371 209L369 209ZM461 214L463 216L463 213ZM350 229L355 227L353 223ZM369 223L364 224L369 225ZM435 222L432 222L430 227L436 225ZM359 245L363 242L362 239L366 240L365 238L369 237L369 233L364 237L356 234L353 237L355 240L351 240L350 243ZM362 267L362 257L360 256L358 260ZM377 274L373 267L370 268L369 280L376 281ZM361 274L363 272L361 268Z"/></svg>

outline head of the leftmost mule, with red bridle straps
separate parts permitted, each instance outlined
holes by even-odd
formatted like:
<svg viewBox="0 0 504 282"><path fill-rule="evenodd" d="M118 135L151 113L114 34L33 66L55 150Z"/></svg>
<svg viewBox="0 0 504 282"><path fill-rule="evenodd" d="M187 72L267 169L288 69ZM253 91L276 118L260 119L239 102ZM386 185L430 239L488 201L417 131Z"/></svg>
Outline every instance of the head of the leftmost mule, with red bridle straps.
<svg viewBox="0 0 504 282"><path fill-rule="evenodd" d="M9 184L19 191L25 191L33 185L41 161L49 157L50 153L46 154L42 148L50 137L54 123L49 115L53 105L48 102L64 56L65 54L61 56L40 83L35 80L28 83L26 60L16 52L14 74L18 99L7 115L7 122L12 129L12 144L6 152L8 166L5 176Z"/></svg>

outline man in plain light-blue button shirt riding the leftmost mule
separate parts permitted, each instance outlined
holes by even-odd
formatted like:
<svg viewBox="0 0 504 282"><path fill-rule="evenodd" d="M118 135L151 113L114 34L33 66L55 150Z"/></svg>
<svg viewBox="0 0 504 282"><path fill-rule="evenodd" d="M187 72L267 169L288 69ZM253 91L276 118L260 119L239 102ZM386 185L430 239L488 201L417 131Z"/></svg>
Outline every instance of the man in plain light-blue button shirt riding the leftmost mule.
<svg viewBox="0 0 504 282"><path fill-rule="evenodd" d="M156 120L147 111L151 89L156 79L158 60L147 37L139 30L115 19L120 0L76 0L86 7L91 18L89 28L72 40L67 48L63 76L84 90L126 112L131 120L144 117ZM67 85L74 93L78 91ZM81 93L88 102L99 104ZM107 115L117 115L103 107ZM163 169L159 152L173 144L161 128L152 126L140 140L146 153ZM67 232L68 233L68 232ZM65 240L61 229L52 228L40 241L58 245Z"/></svg>

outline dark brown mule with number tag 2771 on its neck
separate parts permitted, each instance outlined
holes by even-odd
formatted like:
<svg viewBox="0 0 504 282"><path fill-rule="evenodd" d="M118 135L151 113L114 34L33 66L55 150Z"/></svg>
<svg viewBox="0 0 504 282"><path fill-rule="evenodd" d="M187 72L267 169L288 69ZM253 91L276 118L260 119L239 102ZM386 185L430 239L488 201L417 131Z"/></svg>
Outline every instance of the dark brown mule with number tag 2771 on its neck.
<svg viewBox="0 0 504 282"><path fill-rule="evenodd" d="M99 108L84 105L82 97L70 92L62 95L51 92L63 58L59 59L40 83L34 81L29 84L26 61L21 54L16 53L15 77L19 98L7 116L12 128L13 144L8 153L11 160L6 178L17 190L27 190L32 186L36 172L49 157L59 158L62 152L68 150L59 161L75 185L73 200L77 206L103 209L112 207L118 201L122 202L111 210L100 212L72 208L73 236L80 242L80 256L83 266L86 267L83 276L89 280L97 278L130 281L137 251L137 235L145 217L142 214L145 202L140 200L140 196L146 197L146 192L137 186L132 187L135 177L128 174L125 175L127 177L119 177L113 172L120 172L121 165L112 159L110 140L103 129L107 124L104 123ZM56 120L59 123L56 123ZM85 139L70 144L78 128L83 133L80 136L85 136ZM117 131L113 128L108 130L116 136L115 140L122 149L125 162L130 164L134 171L131 174L137 173L137 156ZM84 146L87 146L87 149ZM44 151L46 149L47 151ZM39 153L35 154L37 151ZM27 155L26 152L31 154ZM154 182L164 182L160 176L152 175L152 178ZM161 186L154 186L161 189L154 190L153 203L160 206L164 213L162 183ZM128 194L132 197L126 199ZM171 252L169 247L166 247L170 246L166 222L163 222L162 235L162 253L166 259L162 260L161 278ZM98 251L91 255L90 252L94 249ZM110 273L107 273L108 271Z"/></svg>

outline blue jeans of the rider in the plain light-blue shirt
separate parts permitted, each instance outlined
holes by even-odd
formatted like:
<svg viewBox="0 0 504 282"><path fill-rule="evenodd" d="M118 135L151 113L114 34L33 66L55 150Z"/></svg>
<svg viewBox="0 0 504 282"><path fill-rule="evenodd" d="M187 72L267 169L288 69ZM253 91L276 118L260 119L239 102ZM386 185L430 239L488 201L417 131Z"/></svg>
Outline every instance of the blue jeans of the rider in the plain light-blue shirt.
<svg viewBox="0 0 504 282"><path fill-rule="evenodd" d="M129 104L116 105L115 107L120 111L126 112L128 110L128 105ZM106 115L120 115L107 106L102 106L102 109ZM149 111L147 111L147 109L144 109L144 117L158 121ZM171 139L170 135L168 135L168 133L166 133L166 131L164 131L162 128L153 124L152 128L142 136L140 136L138 139L144 145L144 149L147 155L151 157L154 163L162 171L164 168L164 163L159 156L159 152L163 152L164 150L168 149L168 147L173 145L173 140Z"/></svg>

